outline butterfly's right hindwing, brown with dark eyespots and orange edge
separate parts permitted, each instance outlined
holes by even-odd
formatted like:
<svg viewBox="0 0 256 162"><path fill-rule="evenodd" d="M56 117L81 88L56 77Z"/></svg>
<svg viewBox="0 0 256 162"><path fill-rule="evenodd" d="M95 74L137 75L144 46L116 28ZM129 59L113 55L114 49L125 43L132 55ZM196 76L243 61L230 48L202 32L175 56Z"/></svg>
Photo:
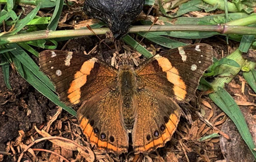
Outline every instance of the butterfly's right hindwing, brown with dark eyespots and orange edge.
<svg viewBox="0 0 256 162"><path fill-rule="evenodd" d="M149 153L172 138L180 119L180 107L172 99L144 87L136 93L137 107L132 131L136 152Z"/></svg>

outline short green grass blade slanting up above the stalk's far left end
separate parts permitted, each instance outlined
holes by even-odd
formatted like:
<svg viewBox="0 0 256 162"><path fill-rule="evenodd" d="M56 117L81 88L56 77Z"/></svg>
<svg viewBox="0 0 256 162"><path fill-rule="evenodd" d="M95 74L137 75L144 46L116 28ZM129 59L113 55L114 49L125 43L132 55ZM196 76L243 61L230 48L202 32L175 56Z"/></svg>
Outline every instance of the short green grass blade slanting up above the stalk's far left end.
<svg viewBox="0 0 256 162"><path fill-rule="evenodd" d="M7 34L7 35L13 35L13 34L16 34L17 32L19 32L20 30L22 30L24 28L24 26L26 26L27 23L35 17L35 15L39 11L39 9L40 9L40 5L36 6L25 18L18 21L16 23L15 28L13 29L13 31L11 33Z"/></svg>

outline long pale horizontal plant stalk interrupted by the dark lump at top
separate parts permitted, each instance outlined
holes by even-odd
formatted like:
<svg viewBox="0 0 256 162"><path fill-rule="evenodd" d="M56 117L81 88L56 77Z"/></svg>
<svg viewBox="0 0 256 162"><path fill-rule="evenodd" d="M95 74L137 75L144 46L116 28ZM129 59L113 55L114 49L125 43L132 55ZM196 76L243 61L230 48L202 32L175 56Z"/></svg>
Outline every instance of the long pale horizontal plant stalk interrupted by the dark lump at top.
<svg viewBox="0 0 256 162"><path fill-rule="evenodd" d="M151 28L151 29L150 29ZM249 26L228 26L228 25L141 25L130 28L130 33L138 32L163 32L163 31L202 31L217 32L220 34L240 34L240 35L256 35L256 28ZM97 35L105 34L109 28L93 29ZM27 42L40 39L53 39L62 37L78 37L95 35L88 29L81 30L64 30L64 31L36 31L30 33L22 33L16 35L3 35L0 37L1 44L10 44L17 42ZM0 34L1 35L1 34Z"/></svg>

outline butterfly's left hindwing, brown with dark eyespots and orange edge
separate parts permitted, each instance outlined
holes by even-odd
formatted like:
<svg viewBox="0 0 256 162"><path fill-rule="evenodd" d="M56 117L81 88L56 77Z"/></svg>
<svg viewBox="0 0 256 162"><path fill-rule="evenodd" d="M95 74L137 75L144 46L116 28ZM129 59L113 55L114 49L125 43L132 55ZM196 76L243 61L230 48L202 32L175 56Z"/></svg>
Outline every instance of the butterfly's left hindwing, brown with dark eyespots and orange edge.
<svg viewBox="0 0 256 162"><path fill-rule="evenodd" d="M80 107L77 116L83 133L98 149L116 154L127 152L129 139L120 113L118 91L102 90Z"/></svg>

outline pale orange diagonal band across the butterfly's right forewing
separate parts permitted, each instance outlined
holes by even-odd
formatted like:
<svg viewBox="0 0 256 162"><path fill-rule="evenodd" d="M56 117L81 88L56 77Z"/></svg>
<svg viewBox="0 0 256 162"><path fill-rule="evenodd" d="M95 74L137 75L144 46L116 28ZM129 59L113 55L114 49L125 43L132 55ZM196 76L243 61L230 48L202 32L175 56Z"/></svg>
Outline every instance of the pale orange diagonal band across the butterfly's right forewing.
<svg viewBox="0 0 256 162"><path fill-rule="evenodd" d="M165 57L160 57L157 59L158 65L166 72L166 77L168 81L174 84L174 94L177 96L176 99L184 100L186 97L186 85L184 81L180 78L179 71L172 66L170 61Z"/></svg>

